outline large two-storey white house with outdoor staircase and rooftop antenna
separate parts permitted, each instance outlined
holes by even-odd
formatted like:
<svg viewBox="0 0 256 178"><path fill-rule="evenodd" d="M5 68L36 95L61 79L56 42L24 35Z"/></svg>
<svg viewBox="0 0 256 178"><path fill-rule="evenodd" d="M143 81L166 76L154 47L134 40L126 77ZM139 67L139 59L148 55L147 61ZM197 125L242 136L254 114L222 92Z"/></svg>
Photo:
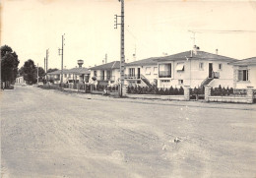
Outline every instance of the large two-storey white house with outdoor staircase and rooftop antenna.
<svg viewBox="0 0 256 178"><path fill-rule="evenodd" d="M233 87L233 69L230 63L236 59L204 52L194 46L193 50L160 57L158 61L158 87L189 86L198 88Z"/></svg>

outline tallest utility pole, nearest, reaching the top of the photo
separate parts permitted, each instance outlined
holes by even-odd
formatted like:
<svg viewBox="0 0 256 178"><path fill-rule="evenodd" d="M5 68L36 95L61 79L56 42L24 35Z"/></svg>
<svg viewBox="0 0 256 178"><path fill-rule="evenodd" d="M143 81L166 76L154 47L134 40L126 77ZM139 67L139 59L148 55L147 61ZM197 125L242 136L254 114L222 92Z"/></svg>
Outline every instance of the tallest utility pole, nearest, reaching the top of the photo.
<svg viewBox="0 0 256 178"><path fill-rule="evenodd" d="M122 88L124 85L124 0L118 0L121 2L121 16L115 15L115 29L117 29L117 25L121 26L121 48L120 48L120 85L119 85L119 96L122 96ZM117 17L121 18L121 23L117 24Z"/></svg>

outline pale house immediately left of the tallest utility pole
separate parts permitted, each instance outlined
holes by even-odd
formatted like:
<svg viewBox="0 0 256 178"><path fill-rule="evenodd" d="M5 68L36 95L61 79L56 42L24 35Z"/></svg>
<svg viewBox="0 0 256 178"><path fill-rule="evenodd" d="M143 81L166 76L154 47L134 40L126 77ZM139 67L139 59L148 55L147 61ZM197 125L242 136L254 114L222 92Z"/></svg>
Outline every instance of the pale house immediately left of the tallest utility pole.
<svg viewBox="0 0 256 178"><path fill-rule="evenodd" d="M120 78L120 61L113 61L90 68L91 78L95 77L98 85L118 84Z"/></svg>

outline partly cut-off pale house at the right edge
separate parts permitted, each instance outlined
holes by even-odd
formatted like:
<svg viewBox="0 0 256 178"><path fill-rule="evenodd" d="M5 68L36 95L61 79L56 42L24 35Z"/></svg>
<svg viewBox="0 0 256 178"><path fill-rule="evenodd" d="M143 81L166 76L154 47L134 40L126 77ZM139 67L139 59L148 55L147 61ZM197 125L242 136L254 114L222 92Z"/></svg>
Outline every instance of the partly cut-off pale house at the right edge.
<svg viewBox="0 0 256 178"><path fill-rule="evenodd" d="M256 57L233 62L233 88L256 88Z"/></svg>

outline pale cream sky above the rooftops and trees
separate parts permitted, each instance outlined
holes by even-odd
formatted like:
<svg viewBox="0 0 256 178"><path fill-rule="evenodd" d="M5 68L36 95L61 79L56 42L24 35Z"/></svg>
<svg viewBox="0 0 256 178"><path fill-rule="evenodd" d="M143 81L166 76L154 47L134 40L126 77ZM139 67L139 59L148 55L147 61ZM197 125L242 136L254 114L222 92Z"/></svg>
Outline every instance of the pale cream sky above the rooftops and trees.
<svg viewBox="0 0 256 178"><path fill-rule="evenodd" d="M126 62L191 50L235 59L256 56L256 1L124 0ZM64 66L74 68L120 60L118 0L2 0L1 46L17 52L22 67L32 59L48 69L61 69L62 35ZM118 19L120 21L120 19ZM239 30L233 32L233 30ZM241 31L240 31L241 30ZM133 57L136 54L136 59Z"/></svg>

